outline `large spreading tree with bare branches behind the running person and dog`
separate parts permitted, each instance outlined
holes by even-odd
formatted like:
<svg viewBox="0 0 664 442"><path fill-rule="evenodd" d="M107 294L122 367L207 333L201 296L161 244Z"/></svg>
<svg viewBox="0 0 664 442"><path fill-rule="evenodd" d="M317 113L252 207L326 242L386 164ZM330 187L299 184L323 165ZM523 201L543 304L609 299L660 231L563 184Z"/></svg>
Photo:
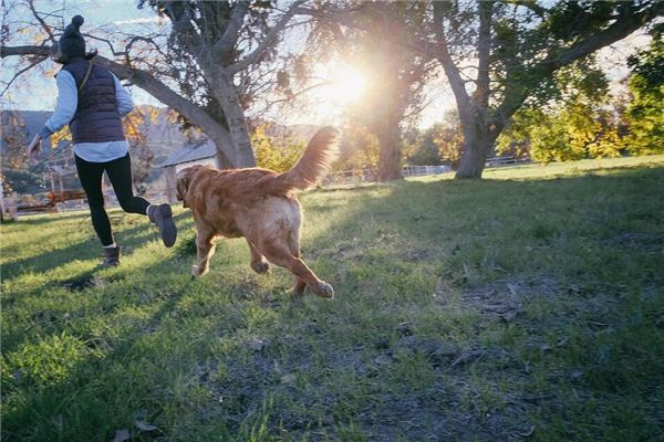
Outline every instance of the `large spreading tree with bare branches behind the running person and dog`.
<svg viewBox="0 0 664 442"><path fill-rule="evenodd" d="M166 24L154 32L84 35L101 42L104 51L111 48L110 55L96 56L95 63L199 127L215 141L226 167L248 167L256 164L245 119L256 93L251 86L264 82L268 75L261 70L273 61L283 30L302 12L303 2L139 0L138 7L153 8ZM32 13L29 27L19 24L21 17L12 17L12 10L21 8ZM1 56L23 59L17 73L40 64L56 53L59 33L68 21L61 12L39 11L34 0L14 2L3 18ZM40 43L22 44L24 30ZM120 41L113 38L117 35Z"/></svg>

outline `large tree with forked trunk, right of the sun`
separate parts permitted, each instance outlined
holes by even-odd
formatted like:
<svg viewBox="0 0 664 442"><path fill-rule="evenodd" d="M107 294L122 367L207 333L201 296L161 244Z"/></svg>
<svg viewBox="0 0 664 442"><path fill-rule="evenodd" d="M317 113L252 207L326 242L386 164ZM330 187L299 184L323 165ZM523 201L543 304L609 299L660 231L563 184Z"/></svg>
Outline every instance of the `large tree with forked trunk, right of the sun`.
<svg viewBox="0 0 664 442"><path fill-rule="evenodd" d="M480 178L510 118L549 91L554 73L664 13L658 0L453 0L433 2L433 51L459 112L457 178Z"/></svg>

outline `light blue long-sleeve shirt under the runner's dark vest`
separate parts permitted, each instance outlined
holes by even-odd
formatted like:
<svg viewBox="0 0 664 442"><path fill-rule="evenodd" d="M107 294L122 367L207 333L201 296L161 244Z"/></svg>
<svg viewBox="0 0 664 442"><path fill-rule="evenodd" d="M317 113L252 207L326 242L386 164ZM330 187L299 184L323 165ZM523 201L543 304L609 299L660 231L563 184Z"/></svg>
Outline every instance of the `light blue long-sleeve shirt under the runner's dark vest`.
<svg viewBox="0 0 664 442"><path fill-rule="evenodd" d="M113 74L111 74L113 75ZM123 117L134 108L134 102L128 92L122 86L120 80L113 75L115 82L115 102L117 103L117 112ZM60 71L55 78L58 85L58 102L55 110L51 118L46 120L40 135L42 139L49 138L53 133L62 129L68 125L79 106L79 91L76 90L76 81L66 71ZM122 158L129 151L126 140L103 141L103 143L76 143L74 144L74 154L90 162L106 162L117 158Z"/></svg>

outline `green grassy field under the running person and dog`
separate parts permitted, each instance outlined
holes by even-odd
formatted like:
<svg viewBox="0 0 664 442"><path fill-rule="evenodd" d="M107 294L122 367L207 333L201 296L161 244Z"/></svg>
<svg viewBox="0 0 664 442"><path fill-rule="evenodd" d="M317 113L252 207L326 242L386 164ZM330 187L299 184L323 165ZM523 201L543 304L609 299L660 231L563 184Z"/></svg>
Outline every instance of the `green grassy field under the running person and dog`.
<svg viewBox="0 0 664 442"><path fill-rule="evenodd" d="M243 240L191 280L181 209L103 271L85 213L2 225L2 441L664 440L664 157L485 177L303 193L332 301Z"/></svg>

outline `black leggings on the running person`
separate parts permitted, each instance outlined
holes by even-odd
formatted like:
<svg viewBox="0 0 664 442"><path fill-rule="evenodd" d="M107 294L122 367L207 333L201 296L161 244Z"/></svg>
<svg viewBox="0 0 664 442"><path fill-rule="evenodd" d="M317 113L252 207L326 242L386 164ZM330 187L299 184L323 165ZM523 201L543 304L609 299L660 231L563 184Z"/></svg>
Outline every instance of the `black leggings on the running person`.
<svg viewBox="0 0 664 442"><path fill-rule="evenodd" d="M102 245L111 245L114 243L113 231L111 230L108 215L104 210L104 194L102 193L102 175L104 170L108 175L122 210L129 213L146 214L149 201L134 196L132 190L132 159L128 152L122 158L106 162L90 162L75 155L74 157L79 179L85 194L87 194L94 231L102 241Z"/></svg>

